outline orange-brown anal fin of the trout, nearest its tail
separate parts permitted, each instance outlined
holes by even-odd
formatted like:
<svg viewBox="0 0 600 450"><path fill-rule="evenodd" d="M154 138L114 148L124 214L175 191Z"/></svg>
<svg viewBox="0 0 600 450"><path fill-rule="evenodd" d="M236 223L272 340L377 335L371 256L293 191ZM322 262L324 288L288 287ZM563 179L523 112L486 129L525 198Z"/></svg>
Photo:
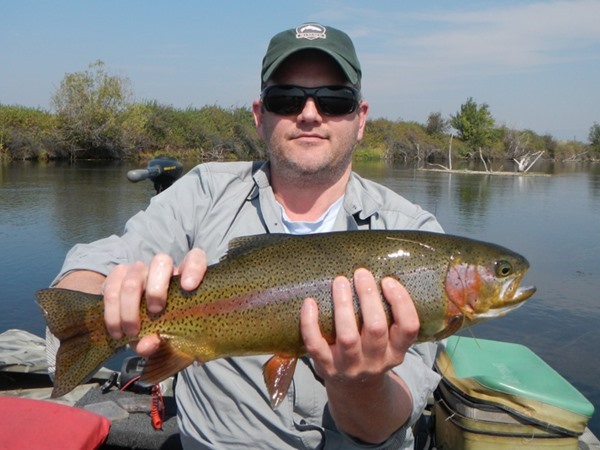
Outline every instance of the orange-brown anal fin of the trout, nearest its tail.
<svg viewBox="0 0 600 450"><path fill-rule="evenodd" d="M146 360L140 382L148 386L158 384L185 369L194 359L193 355L176 348L170 339L162 339L158 350Z"/></svg>

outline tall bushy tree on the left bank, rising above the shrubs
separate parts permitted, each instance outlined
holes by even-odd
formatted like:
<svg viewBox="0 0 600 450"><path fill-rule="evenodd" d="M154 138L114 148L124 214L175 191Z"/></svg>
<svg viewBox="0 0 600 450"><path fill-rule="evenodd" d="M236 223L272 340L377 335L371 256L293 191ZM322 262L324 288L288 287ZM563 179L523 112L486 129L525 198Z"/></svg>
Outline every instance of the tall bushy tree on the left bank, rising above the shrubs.
<svg viewBox="0 0 600 450"><path fill-rule="evenodd" d="M52 106L69 156L123 156L121 113L130 97L129 80L108 74L102 61L67 74L52 96Z"/></svg>

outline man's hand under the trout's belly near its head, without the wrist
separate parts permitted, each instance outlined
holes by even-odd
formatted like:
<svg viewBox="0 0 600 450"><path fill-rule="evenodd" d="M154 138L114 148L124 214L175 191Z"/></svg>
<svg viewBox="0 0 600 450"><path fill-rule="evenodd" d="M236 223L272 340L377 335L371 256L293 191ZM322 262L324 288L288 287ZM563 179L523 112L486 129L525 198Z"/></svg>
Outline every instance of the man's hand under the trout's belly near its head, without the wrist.
<svg viewBox="0 0 600 450"><path fill-rule="evenodd" d="M393 323L388 327L382 299L370 272L358 269L354 284L363 316L358 329L349 281L338 277L333 282L336 338L329 345L321 335L318 309L307 299L302 310L301 330L304 344L319 375L338 381L380 376L404 361L404 355L419 332L419 317L406 289L392 278L382 281L384 297L392 307Z"/></svg>

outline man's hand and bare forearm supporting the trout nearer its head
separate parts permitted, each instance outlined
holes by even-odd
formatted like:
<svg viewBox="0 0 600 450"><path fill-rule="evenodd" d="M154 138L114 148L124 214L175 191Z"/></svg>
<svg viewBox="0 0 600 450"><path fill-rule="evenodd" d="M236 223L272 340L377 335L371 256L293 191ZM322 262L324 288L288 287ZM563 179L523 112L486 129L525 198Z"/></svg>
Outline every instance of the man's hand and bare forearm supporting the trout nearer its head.
<svg viewBox="0 0 600 450"><path fill-rule="evenodd" d="M337 425L361 440L379 443L399 429L412 411L408 388L390 369L404 361L415 342L419 317L406 289L392 278L381 282L383 296L392 310L390 327L372 274L358 269L354 286L363 316L362 329L354 315L350 283L338 277L332 286L335 343L330 345L321 335L313 299L303 304L301 332L315 369L324 379Z"/></svg>

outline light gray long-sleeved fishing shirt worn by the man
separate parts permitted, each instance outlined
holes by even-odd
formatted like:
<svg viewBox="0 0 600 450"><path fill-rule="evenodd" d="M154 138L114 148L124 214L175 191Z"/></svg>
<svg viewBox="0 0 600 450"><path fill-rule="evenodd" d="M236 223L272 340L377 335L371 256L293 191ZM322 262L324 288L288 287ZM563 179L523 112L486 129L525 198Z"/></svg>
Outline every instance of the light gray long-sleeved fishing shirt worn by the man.
<svg viewBox="0 0 600 450"><path fill-rule="evenodd" d="M356 229L442 232L430 213L352 173L334 230ZM193 247L202 248L213 264L233 238L283 232L268 163L201 164L133 216L122 236L73 247L56 280L74 270L108 274L117 264L149 262L159 252L179 264ZM380 445L357 442L337 429L325 387L308 357L298 362L292 386L277 409L271 408L262 373L269 356L194 363L177 382L182 443L195 449L412 448L410 425L439 381L431 370L435 352L434 344L415 345L394 369L411 391L413 411L409 422Z"/></svg>

